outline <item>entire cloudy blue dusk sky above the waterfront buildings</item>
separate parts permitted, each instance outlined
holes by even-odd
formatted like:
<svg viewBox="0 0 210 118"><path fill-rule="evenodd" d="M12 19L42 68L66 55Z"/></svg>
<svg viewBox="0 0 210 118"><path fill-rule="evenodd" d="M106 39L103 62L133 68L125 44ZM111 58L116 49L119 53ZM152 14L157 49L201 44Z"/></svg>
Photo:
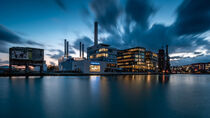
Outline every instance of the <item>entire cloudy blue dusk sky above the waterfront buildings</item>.
<svg viewBox="0 0 210 118"><path fill-rule="evenodd" d="M57 64L63 42L78 57L79 42L118 49L169 45L173 65L210 61L209 0L0 0L0 65L12 46L45 49L47 64Z"/></svg>

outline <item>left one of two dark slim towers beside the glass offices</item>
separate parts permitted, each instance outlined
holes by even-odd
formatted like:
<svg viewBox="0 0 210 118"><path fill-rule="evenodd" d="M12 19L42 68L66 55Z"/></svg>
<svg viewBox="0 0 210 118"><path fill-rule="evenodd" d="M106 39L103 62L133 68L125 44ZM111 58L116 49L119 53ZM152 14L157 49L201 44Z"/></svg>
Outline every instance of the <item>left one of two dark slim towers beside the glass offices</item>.
<svg viewBox="0 0 210 118"><path fill-rule="evenodd" d="M160 49L158 51L158 71L163 72L165 70L165 51Z"/></svg>

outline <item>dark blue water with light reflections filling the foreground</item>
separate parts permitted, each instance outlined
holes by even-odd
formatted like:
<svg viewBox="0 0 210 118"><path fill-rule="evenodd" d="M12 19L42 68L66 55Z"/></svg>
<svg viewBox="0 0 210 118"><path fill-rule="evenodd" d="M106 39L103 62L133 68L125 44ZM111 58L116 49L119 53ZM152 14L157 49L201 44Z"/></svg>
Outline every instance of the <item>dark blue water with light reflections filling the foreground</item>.
<svg viewBox="0 0 210 118"><path fill-rule="evenodd" d="M210 75L1 77L1 118L210 118Z"/></svg>

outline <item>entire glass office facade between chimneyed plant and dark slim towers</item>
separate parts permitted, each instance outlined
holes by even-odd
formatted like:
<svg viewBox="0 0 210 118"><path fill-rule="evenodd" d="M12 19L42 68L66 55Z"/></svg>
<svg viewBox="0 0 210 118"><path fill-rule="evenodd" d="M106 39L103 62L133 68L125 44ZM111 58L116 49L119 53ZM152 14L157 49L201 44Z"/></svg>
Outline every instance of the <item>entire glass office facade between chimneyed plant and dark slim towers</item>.
<svg viewBox="0 0 210 118"><path fill-rule="evenodd" d="M119 50L117 66L126 72L156 71L158 55L145 48L136 47Z"/></svg>

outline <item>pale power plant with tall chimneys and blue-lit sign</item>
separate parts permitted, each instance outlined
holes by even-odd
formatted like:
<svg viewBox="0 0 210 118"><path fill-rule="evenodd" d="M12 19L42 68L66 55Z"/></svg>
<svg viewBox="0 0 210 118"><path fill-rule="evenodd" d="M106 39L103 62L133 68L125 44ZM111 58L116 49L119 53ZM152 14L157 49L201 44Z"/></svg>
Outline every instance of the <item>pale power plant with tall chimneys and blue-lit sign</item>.
<svg viewBox="0 0 210 118"><path fill-rule="evenodd" d="M98 44L98 23L94 24L94 45L87 48L84 57L84 44L80 42L80 57L68 56L68 42L64 41L64 57L58 60L59 70L82 73L113 72L117 68L117 50L106 44Z"/></svg>

